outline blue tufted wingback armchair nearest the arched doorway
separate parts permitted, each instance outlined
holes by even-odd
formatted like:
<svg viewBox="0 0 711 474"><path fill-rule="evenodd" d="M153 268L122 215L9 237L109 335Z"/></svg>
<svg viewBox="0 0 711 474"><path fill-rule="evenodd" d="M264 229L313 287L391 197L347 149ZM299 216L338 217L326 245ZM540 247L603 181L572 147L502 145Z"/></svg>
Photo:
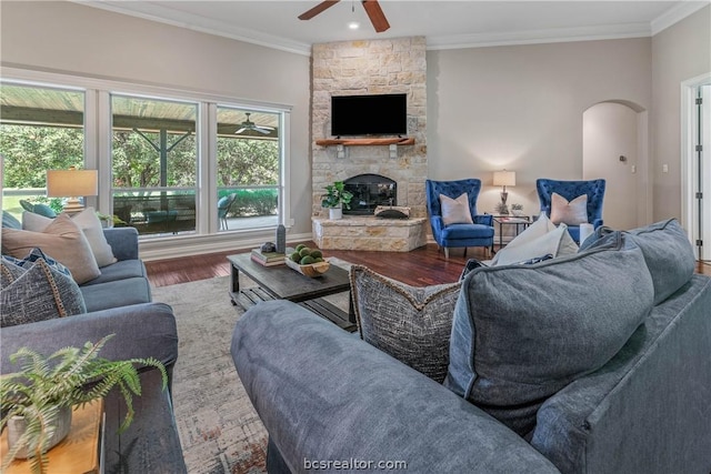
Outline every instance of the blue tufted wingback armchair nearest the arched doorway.
<svg viewBox="0 0 711 474"><path fill-rule="evenodd" d="M604 198L604 180L590 181L555 181L548 179L535 180L535 190L541 203L541 211L551 216L551 196L558 193L572 201L579 195L588 195L588 223L594 229L602 225L602 199ZM575 242L580 240L580 225L568 225L568 232Z"/></svg>

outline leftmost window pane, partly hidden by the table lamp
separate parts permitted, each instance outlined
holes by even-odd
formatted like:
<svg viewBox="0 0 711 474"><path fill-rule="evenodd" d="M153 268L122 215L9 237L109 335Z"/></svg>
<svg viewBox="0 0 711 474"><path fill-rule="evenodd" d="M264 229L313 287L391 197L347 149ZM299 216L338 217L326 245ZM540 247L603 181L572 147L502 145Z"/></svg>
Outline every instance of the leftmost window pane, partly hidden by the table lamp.
<svg viewBox="0 0 711 474"><path fill-rule="evenodd" d="M84 94L0 82L2 209L21 219L20 201L61 212L47 198L47 170L84 168Z"/></svg>

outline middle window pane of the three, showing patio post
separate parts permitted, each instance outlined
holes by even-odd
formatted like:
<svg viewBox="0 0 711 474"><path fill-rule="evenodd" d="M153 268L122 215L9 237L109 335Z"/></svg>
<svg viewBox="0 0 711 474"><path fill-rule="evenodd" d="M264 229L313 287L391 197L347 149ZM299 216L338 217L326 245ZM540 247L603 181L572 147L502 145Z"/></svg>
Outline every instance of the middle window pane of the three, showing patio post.
<svg viewBox="0 0 711 474"><path fill-rule="evenodd" d="M196 103L112 95L113 213L140 235L196 231Z"/></svg>

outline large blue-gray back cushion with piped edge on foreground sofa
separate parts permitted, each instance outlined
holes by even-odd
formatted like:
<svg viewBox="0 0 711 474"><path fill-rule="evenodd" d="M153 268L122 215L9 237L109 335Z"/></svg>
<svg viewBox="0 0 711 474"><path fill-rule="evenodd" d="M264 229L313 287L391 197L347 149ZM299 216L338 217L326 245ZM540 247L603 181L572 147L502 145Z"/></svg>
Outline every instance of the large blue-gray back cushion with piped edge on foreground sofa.
<svg viewBox="0 0 711 474"><path fill-rule="evenodd" d="M642 251L619 232L574 255L474 269L454 310L444 384L523 436L545 399L624 345L652 301Z"/></svg>

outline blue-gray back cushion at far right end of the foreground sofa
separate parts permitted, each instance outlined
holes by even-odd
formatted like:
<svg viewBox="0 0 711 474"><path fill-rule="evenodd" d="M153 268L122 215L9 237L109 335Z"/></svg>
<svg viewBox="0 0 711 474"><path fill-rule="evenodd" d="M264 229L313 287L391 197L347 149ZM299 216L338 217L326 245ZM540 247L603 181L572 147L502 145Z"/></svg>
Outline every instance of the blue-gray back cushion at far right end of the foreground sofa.
<svg viewBox="0 0 711 474"><path fill-rule="evenodd" d="M642 249L654 283L654 305L667 300L691 279L697 260L679 221L668 219L623 233ZM597 239L588 239L581 250L604 244L612 235L610 228L599 228Z"/></svg>

